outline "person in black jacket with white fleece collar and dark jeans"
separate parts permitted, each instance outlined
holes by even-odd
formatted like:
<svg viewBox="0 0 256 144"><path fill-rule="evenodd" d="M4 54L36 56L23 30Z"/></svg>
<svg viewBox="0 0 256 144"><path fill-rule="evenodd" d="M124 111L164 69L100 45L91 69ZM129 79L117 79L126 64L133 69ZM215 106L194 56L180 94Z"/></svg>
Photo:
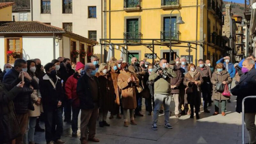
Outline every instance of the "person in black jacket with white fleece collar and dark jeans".
<svg viewBox="0 0 256 144"><path fill-rule="evenodd" d="M57 71L53 63L47 63L44 69L46 74L39 84L45 116L45 140L47 144L54 142L62 144L65 142L60 140L63 132L61 79L56 75Z"/></svg>

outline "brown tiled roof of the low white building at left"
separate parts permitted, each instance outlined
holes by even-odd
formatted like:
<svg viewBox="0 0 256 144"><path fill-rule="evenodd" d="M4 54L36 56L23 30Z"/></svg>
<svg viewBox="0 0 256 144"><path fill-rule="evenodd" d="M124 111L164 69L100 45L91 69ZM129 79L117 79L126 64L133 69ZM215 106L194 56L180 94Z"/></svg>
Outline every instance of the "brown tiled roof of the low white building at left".
<svg viewBox="0 0 256 144"><path fill-rule="evenodd" d="M39 21L0 21L0 34L3 33L67 33L98 44L97 41L67 32L63 28L54 27Z"/></svg>

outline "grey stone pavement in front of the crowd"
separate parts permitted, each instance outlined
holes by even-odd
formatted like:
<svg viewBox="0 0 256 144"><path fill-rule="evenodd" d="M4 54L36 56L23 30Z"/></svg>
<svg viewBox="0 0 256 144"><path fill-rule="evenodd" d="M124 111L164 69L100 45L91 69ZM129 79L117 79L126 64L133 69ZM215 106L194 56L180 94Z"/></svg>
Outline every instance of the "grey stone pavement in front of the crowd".
<svg viewBox="0 0 256 144"><path fill-rule="evenodd" d="M241 144L242 114L235 112L236 97L232 96L231 103L227 103L226 116L221 116L221 114L212 116L214 104L208 109L211 113L204 113L201 106L199 120L196 120L196 117L191 119L187 115L176 118L174 116L174 101L172 101L170 123L173 129L164 127L164 115L160 115L158 130L154 131L151 129L152 116L147 115L143 106L142 114L144 116L135 118L138 125L124 127L122 119L107 119L110 127L100 128L97 122L95 137L100 139L99 144ZM44 127L43 123L40 125ZM71 137L71 125L64 122L61 139L66 141L66 144L80 144L80 120L78 125L78 137L74 138ZM248 135L247 132L245 133L247 142ZM36 143L45 144L44 136L44 132L36 132Z"/></svg>

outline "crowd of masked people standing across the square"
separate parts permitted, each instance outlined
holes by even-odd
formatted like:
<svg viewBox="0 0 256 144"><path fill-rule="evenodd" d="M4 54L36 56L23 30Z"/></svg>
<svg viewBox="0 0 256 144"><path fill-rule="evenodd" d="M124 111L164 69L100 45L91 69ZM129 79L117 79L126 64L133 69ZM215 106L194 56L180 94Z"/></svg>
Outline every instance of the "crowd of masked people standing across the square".
<svg viewBox="0 0 256 144"><path fill-rule="evenodd" d="M44 67L40 59L16 59L13 67L5 64L0 74L0 143L36 144L34 133L41 120L47 144L63 144L63 122L71 124L72 136L76 137L80 111L81 143L99 142L95 138L97 119L100 127L110 126L107 123L110 112L109 119L123 117L124 127L137 125L136 116L143 116L142 99L148 115L153 112L153 130L158 129L159 113L164 113L164 126L172 129L169 121L172 100L176 118L190 115L193 119L195 113L199 119L200 105L205 113L210 113L208 107L212 102L213 116L220 113L220 105L221 115L225 116L230 100L230 96L222 93L225 85L237 95L236 111L241 112L242 99L256 93L254 67L254 56L235 65L226 56L217 61L215 68L210 60L200 59L196 67L184 57L170 62L161 58L153 63L133 57L131 64L112 57L108 63L99 64L98 57L93 55L85 65L59 57ZM231 89L233 77L237 85ZM256 143L253 102L245 103L250 143Z"/></svg>

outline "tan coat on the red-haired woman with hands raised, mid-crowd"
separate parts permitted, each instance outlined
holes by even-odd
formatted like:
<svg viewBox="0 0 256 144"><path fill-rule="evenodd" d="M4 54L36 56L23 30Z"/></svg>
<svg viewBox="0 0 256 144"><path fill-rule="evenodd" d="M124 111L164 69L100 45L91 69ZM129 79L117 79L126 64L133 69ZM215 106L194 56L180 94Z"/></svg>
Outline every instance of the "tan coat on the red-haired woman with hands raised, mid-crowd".
<svg viewBox="0 0 256 144"><path fill-rule="evenodd" d="M128 78L131 77L131 72L120 71L117 77L117 84L122 90L122 104L124 109L135 109L137 107L136 102L136 85L139 84L139 79L135 76L135 83L128 83Z"/></svg>

